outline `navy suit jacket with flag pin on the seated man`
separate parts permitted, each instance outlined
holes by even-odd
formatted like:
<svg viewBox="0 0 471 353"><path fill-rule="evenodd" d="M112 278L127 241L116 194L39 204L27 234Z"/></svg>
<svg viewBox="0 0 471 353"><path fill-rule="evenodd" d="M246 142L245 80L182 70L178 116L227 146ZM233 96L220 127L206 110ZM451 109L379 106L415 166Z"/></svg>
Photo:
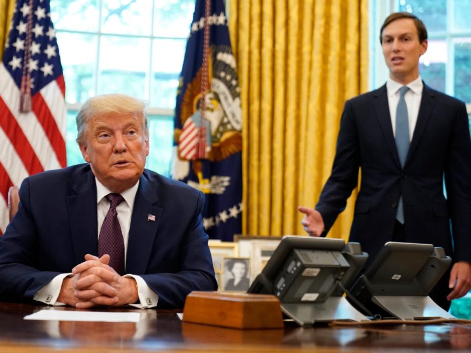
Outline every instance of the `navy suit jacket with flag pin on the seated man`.
<svg viewBox="0 0 471 353"><path fill-rule="evenodd" d="M201 192L144 170L128 238L126 273L141 276L158 307L183 307L215 290ZM148 215L155 215L155 221ZM0 237L0 300L30 301L53 277L98 254L97 190L88 164L27 177L18 213Z"/></svg>

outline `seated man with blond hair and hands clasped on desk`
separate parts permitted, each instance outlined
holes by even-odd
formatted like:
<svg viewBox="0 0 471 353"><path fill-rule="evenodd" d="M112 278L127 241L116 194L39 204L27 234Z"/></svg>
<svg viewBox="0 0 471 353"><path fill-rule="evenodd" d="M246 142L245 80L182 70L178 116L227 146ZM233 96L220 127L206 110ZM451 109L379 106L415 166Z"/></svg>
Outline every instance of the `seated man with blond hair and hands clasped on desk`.
<svg viewBox="0 0 471 353"><path fill-rule="evenodd" d="M203 194L144 169L144 102L91 98L77 129L87 164L20 187L0 238L0 300L183 307L190 291L215 290Z"/></svg>

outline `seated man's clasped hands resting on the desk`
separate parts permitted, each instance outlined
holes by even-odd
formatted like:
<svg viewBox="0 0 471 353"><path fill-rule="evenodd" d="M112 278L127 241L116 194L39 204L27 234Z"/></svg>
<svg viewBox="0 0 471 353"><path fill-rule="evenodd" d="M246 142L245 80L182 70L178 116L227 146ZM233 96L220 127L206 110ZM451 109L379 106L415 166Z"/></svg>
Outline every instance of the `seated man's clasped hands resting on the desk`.
<svg viewBox="0 0 471 353"><path fill-rule="evenodd" d="M135 279L121 277L108 263L107 254L100 258L86 254L85 261L72 269L74 276L62 281L57 301L80 309L135 303Z"/></svg>

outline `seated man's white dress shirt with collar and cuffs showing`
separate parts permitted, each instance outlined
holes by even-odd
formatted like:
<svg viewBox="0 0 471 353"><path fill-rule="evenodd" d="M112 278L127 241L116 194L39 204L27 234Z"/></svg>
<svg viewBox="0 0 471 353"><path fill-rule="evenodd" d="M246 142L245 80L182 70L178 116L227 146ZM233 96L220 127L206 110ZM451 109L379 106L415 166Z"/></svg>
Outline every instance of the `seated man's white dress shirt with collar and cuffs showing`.
<svg viewBox="0 0 471 353"><path fill-rule="evenodd" d="M106 213L108 213L109 202L105 199L105 196L111 193L97 178L95 178L97 185L97 216L98 216L98 237L100 237L100 229L102 228L103 221L105 220ZM139 187L139 181L130 189L121 193L124 198L124 202L121 202L116 207L118 214L118 221L121 227L124 241L124 254L125 264L126 255L128 253L128 236L129 229L131 228L131 216L132 209L134 207L134 199L136 197L137 188ZM85 254L83 254L85 256ZM85 261L85 259L83 259ZM57 302L57 297L60 293L62 281L65 277L72 277L72 273L60 274L52 278L51 282L46 284L34 295L34 300L49 305L64 305L64 303ZM137 283L137 294L139 296L140 304L130 304L139 308L150 308L157 305L158 295L147 285L146 281L137 275L127 274L123 277L132 277Z"/></svg>

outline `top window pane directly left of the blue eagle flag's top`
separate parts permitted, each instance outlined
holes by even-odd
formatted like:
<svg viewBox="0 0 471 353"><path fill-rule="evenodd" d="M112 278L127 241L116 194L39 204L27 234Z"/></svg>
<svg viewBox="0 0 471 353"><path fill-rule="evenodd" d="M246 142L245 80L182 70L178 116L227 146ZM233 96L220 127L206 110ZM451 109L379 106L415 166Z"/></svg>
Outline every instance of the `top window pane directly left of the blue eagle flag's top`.
<svg viewBox="0 0 471 353"><path fill-rule="evenodd" d="M190 32L195 0L158 0L154 9L156 37L186 38Z"/></svg>

